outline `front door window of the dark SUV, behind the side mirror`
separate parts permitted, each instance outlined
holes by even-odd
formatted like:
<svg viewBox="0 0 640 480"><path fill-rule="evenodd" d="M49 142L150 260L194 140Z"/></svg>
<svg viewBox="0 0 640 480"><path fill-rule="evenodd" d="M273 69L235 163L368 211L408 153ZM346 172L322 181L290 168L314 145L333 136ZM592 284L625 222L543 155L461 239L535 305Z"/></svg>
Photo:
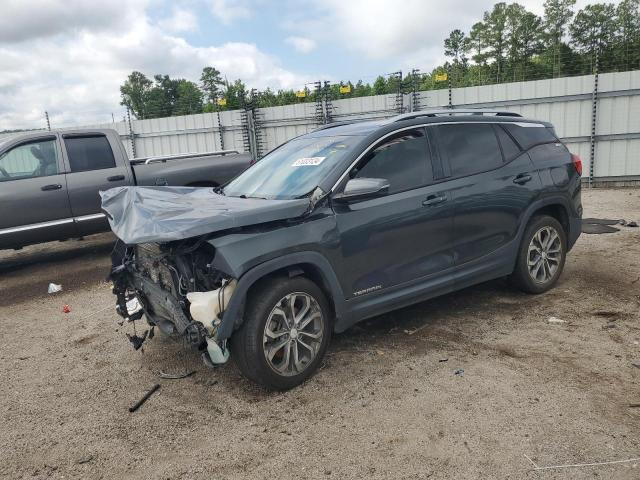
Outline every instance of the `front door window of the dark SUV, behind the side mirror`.
<svg viewBox="0 0 640 480"><path fill-rule="evenodd" d="M354 177L385 178L389 180L389 193L431 183L431 155L424 130L406 130L385 139L351 172Z"/></svg>

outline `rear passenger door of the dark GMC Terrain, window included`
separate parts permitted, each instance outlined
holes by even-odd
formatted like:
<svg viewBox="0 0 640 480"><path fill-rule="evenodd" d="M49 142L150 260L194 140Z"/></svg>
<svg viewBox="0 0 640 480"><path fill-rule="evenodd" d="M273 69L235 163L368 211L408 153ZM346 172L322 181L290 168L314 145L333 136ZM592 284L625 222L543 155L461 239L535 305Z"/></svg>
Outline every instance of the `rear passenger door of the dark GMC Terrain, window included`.
<svg viewBox="0 0 640 480"><path fill-rule="evenodd" d="M522 216L540 191L529 156L499 124L435 129L454 203L455 264L481 262L478 275L507 268Z"/></svg>

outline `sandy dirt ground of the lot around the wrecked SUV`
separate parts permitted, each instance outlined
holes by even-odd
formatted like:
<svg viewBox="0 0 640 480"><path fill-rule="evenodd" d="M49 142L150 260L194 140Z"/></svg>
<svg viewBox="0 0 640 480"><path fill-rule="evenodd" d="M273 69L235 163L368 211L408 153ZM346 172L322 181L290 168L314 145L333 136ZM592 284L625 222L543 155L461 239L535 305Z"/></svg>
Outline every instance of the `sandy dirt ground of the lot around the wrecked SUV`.
<svg viewBox="0 0 640 480"><path fill-rule="evenodd" d="M639 189L583 203L640 221ZM134 351L111 242L0 252L1 478L640 479L640 460L533 465L640 457L640 228L582 235L547 294L495 281L356 326L286 393L160 334Z"/></svg>

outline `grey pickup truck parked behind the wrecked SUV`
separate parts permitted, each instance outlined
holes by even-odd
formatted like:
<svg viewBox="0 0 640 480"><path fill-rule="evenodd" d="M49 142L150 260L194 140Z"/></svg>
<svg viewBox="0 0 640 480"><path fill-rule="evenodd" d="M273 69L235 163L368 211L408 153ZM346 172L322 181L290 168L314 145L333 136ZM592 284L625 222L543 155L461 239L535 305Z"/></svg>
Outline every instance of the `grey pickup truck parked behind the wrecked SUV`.
<svg viewBox="0 0 640 480"><path fill-rule="evenodd" d="M0 139L0 249L109 230L101 190L217 187L251 163L220 151L129 160L115 130L29 132Z"/></svg>

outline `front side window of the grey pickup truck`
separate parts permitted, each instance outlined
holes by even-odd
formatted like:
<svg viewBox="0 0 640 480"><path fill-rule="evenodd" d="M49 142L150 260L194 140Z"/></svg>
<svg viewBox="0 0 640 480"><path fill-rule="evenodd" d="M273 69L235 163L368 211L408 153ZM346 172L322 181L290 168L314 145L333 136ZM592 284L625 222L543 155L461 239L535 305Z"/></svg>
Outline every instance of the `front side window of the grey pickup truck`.
<svg viewBox="0 0 640 480"><path fill-rule="evenodd" d="M0 182L58 174L56 140L23 143L0 155Z"/></svg>

